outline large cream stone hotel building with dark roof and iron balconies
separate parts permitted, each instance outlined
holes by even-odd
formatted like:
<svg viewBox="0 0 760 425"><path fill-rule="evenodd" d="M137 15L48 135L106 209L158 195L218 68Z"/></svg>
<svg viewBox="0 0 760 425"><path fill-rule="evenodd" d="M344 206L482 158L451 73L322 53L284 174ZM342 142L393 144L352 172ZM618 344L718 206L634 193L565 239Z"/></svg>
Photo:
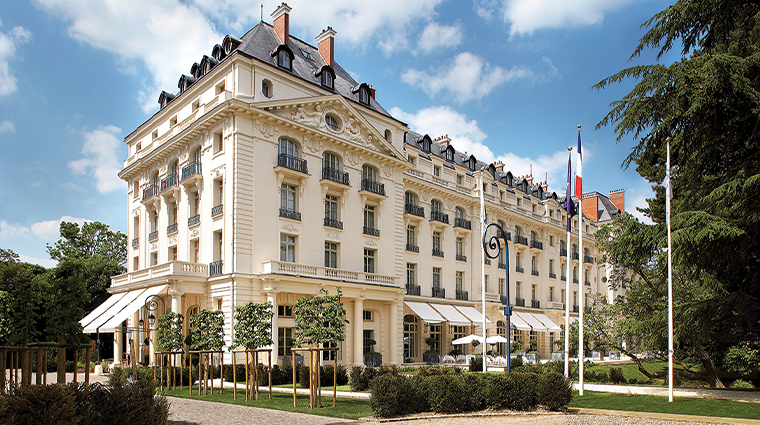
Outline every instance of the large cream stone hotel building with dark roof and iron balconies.
<svg viewBox="0 0 760 425"><path fill-rule="evenodd" d="M117 363L143 345L152 362L155 332L141 319L221 310L229 343L234 307L269 301L282 363L296 301L340 288L349 323L338 362L360 364L370 351L385 363L420 362L428 337L441 355L471 352L451 341L482 333L483 313L488 334L505 335L509 285L511 334L549 357L566 279L573 299L605 293L595 223L584 222L589 248L577 252L577 219L568 243L561 200L545 183L410 130L335 62L335 31L312 46L289 34L290 11L283 3L273 25L225 37L125 138L128 271L82 320L85 332L115 332ZM488 222L509 239L508 254L491 261L481 192ZM577 282L580 267L586 282Z"/></svg>

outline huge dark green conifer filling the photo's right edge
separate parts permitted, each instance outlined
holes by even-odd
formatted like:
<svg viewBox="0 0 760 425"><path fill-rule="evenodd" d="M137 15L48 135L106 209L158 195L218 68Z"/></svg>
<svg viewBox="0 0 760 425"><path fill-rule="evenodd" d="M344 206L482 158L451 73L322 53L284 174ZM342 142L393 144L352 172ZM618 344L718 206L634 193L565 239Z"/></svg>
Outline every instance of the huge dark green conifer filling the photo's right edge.
<svg viewBox="0 0 760 425"><path fill-rule="evenodd" d="M603 232L614 239L600 240L615 267L636 273L625 302L628 317L641 320L648 312L651 321L640 326L649 334L641 334L641 344L662 348L662 182L669 141L674 291L680 294L676 341L682 359L699 361L714 386L722 386L715 359L727 347L760 340L760 210L754 205L760 195L759 12L757 2L680 0L645 24L649 30L632 57L653 48L660 60L680 44L681 59L631 67L596 85L638 80L597 127L614 124L618 140L633 136L623 165L635 164L656 193L643 209L654 225L621 217L620 228Z"/></svg>

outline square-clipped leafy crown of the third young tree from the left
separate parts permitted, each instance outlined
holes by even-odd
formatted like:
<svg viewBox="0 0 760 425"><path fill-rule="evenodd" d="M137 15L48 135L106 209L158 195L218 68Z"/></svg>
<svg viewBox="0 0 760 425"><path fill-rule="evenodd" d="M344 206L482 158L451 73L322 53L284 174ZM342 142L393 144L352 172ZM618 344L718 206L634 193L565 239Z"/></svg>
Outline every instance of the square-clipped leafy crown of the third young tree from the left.
<svg viewBox="0 0 760 425"><path fill-rule="evenodd" d="M240 346L255 350L271 345L272 316L270 302L247 302L235 307L235 338L230 345L230 351Z"/></svg>

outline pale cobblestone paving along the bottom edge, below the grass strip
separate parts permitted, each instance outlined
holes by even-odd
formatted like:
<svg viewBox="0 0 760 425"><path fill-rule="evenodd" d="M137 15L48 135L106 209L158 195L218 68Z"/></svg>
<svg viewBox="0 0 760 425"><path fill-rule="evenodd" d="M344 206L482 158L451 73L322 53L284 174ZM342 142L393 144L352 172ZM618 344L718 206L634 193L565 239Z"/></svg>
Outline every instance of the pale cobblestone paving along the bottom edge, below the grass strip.
<svg viewBox="0 0 760 425"><path fill-rule="evenodd" d="M169 425L327 425L345 419L260 409L258 407L167 397Z"/></svg>

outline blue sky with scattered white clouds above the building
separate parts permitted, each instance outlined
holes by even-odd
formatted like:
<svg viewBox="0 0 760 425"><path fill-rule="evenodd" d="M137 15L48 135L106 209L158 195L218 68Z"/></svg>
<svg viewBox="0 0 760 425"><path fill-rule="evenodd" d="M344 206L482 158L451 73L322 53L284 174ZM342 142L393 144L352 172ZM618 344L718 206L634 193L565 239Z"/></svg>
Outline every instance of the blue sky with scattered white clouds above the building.
<svg viewBox="0 0 760 425"><path fill-rule="evenodd" d="M161 90L227 34L241 37L281 0L9 0L0 8L0 248L53 266L61 221L127 231L124 137L158 110ZM634 86L593 85L630 59L663 0L291 0L291 35L335 60L397 119L516 176L565 189L582 126L583 189L652 196L621 164L635 141L595 130ZM262 12L263 10L263 12ZM674 54L661 61L677 60ZM574 157L575 155L573 155ZM575 163L575 159L573 159ZM575 165L573 165L575 170Z"/></svg>

